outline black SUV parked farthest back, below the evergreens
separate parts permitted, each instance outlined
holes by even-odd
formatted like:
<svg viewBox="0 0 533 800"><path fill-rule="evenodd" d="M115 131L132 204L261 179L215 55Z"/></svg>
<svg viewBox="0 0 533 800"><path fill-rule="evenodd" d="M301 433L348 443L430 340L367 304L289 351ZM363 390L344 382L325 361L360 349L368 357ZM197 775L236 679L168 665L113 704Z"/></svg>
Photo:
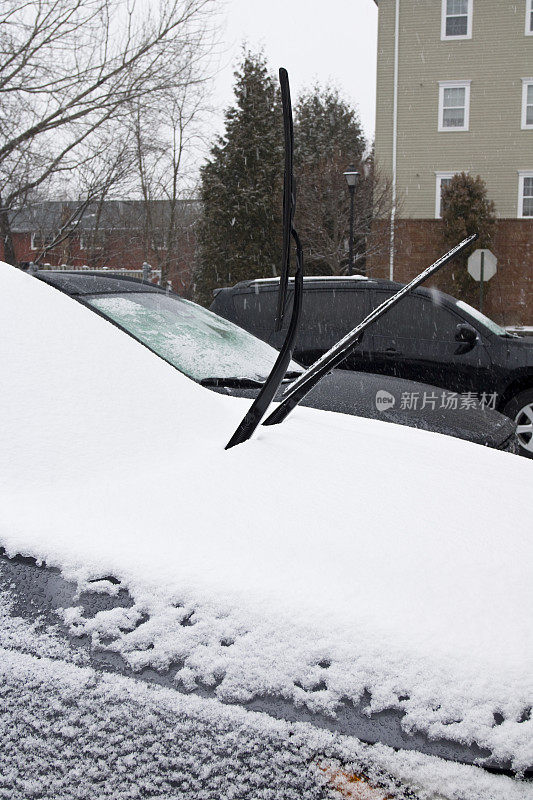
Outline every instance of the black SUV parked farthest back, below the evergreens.
<svg viewBox="0 0 533 800"><path fill-rule="evenodd" d="M313 363L401 286L361 276L306 278L295 358ZM280 347L277 291L275 278L243 281L216 291L211 310ZM441 386L461 402L475 395L516 420L520 452L533 458L533 337L507 332L450 295L416 289L368 330L343 366Z"/></svg>

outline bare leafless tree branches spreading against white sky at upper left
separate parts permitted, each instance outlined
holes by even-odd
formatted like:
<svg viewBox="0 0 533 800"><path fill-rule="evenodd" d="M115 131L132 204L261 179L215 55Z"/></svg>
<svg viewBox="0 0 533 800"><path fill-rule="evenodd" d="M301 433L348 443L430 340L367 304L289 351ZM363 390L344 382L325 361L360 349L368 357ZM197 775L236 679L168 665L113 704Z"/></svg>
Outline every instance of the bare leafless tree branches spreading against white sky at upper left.
<svg viewBox="0 0 533 800"><path fill-rule="evenodd" d="M149 6L140 0L4 1L0 215L5 242L8 212L61 172L70 170L74 183L87 153L95 153L101 130L114 125L115 135L132 147L133 107L156 114L169 95L179 100L201 87L214 8L215 0L154 0ZM12 245L6 249L12 251Z"/></svg>

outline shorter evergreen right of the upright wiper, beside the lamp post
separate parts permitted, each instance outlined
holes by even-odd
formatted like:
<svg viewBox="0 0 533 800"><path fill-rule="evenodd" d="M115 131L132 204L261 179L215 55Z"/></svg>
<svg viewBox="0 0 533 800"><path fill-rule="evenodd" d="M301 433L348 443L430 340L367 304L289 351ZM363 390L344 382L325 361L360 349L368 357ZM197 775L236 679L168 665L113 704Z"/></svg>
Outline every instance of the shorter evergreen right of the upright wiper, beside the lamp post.
<svg viewBox="0 0 533 800"><path fill-rule="evenodd" d="M351 164L360 173L354 249L357 266L363 266L373 180L373 170L364 168L365 148L356 111L335 89L315 86L300 99L295 109L296 224L307 272L340 274L347 268L350 199L343 172Z"/></svg>

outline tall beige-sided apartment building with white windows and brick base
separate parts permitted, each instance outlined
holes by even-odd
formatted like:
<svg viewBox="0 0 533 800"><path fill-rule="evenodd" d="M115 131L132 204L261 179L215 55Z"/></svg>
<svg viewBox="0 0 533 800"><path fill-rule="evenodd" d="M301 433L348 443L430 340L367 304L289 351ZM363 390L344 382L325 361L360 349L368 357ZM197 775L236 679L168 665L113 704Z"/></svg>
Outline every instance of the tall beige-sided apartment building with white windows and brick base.
<svg viewBox="0 0 533 800"><path fill-rule="evenodd" d="M496 206L486 312L533 323L533 0L377 0L376 161L394 194L389 252L405 281L442 253L440 198L480 175Z"/></svg>

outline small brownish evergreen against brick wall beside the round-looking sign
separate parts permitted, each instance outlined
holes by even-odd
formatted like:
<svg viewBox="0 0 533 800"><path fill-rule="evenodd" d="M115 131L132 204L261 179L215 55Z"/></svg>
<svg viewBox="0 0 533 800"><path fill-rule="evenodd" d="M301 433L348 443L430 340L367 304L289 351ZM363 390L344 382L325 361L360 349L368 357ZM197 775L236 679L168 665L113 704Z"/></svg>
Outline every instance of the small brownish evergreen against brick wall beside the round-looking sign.
<svg viewBox="0 0 533 800"><path fill-rule="evenodd" d="M496 225L494 202L487 199L485 181L479 175L474 178L466 172L455 174L442 190L441 209L443 241L447 248L473 233L479 234L468 252L455 259L451 272L444 278L447 291L476 303L479 284L467 270L468 257L477 248L492 247Z"/></svg>

